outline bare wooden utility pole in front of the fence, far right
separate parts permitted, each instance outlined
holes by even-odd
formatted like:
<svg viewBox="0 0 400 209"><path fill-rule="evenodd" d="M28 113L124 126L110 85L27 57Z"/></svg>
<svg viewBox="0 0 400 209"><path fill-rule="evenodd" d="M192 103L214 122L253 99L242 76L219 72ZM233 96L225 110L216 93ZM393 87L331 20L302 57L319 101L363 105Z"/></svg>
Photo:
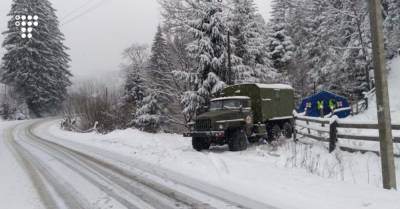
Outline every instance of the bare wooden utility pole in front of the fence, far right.
<svg viewBox="0 0 400 209"><path fill-rule="evenodd" d="M389 91L384 51L381 0L369 0L369 13L375 68L376 103L378 109L383 187L385 189L396 189L397 185L393 158L392 122L390 117Z"/></svg>

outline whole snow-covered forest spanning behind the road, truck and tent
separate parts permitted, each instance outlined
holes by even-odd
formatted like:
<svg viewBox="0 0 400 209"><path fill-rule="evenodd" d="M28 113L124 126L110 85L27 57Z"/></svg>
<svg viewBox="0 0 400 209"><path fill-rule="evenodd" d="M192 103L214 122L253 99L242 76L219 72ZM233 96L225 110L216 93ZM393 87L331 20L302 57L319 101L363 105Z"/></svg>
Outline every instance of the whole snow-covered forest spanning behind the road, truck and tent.
<svg viewBox="0 0 400 209"><path fill-rule="evenodd" d="M227 85L289 84L298 100L326 90L358 101L374 88L367 1L273 0L269 20L254 0L159 3L162 22L153 42L132 40L122 52L121 89L86 82L67 94L68 48L49 4L35 5L52 22L54 30L44 28L40 36L48 44L37 40L20 49L10 21L0 113L6 119L63 114L63 127L79 132L135 127L180 133ZM400 2L383 0L382 8L390 60L400 49ZM33 58L21 59L28 52Z"/></svg>

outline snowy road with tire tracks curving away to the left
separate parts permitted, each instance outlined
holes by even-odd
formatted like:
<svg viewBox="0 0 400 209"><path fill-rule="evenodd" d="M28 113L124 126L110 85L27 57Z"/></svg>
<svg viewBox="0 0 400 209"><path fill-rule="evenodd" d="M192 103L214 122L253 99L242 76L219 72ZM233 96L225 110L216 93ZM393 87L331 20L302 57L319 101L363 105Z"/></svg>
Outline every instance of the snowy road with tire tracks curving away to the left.
<svg viewBox="0 0 400 209"><path fill-rule="evenodd" d="M4 131L40 197L37 208L275 208L115 153L42 138L35 131L45 131L37 130L44 122L49 120Z"/></svg>

